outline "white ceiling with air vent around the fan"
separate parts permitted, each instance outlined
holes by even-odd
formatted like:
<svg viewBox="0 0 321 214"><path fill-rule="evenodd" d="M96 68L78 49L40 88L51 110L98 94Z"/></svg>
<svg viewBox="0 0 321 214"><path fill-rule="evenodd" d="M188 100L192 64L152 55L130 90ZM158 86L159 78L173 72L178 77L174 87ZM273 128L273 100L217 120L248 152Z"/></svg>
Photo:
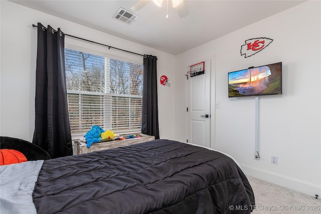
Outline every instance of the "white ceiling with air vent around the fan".
<svg viewBox="0 0 321 214"><path fill-rule="evenodd" d="M190 14L184 18L179 17L172 8L172 1L169 1L168 19L166 0L162 8L149 2L139 11L130 9L137 1L11 2L177 55L305 1L185 0ZM139 18L131 25L113 19L120 7ZM63 31L70 34L68 29Z"/></svg>

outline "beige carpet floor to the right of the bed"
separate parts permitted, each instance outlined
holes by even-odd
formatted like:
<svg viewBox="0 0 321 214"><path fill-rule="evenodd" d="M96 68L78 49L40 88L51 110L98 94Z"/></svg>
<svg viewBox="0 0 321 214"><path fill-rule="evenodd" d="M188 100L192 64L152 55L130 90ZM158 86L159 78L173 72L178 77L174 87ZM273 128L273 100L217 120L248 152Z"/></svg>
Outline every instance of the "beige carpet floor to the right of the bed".
<svg viewBox="0 0 321 214"><path fill-rule="evenodd" d="M255 196L253 214L321 213L318 199L247 175Z"/></svg>

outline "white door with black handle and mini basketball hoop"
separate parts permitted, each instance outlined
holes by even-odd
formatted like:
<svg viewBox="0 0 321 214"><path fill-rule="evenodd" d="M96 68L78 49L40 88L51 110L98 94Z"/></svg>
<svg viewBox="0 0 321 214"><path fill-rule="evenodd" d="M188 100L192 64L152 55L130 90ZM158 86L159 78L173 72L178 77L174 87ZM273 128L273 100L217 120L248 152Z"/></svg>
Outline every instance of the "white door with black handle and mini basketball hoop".
<svg viewBox="0 0 321 214"><path fill-rule="evenodd" d="M204 62L204 74L193 77L188 74L187 81L188 142L211 147L211 60Z"/></svg>

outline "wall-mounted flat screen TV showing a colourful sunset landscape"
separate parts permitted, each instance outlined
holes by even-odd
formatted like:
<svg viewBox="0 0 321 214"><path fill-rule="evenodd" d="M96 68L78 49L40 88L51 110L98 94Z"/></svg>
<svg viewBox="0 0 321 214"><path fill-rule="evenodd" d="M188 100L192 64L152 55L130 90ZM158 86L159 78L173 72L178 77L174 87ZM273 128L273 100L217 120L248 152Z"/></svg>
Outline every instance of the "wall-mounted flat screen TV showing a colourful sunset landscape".
<svg viewBox="0 0 321 214"><path fill-rule="evenodd" d="M282 94L282 62L228 73L229 97Z"/></svg>

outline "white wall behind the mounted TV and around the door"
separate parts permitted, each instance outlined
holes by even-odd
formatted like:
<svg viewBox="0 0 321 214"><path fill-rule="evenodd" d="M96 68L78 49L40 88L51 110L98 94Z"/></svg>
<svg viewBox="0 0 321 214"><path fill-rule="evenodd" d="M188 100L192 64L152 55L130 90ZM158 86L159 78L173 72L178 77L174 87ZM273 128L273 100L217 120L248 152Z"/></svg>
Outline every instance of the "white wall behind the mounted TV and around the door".
<svg viewBox="0 0 321 214"><path fill-rule="evenodd" d="M246 174L309 195L321 195L320 2L311 1L182 53L176 58L176 108L186 108L186 68L216 60L212 75L211 147L229 153ZM240 55L245 40L274 41L261 52ZM283 63L283 94L259 97L260 160L254 160L255 98L228 98L227 73ZM182 96L185 94L185 96ZM186 140L186 112L175 113L176 139ZM271 155L278 164L271 164Z"/></svg>

